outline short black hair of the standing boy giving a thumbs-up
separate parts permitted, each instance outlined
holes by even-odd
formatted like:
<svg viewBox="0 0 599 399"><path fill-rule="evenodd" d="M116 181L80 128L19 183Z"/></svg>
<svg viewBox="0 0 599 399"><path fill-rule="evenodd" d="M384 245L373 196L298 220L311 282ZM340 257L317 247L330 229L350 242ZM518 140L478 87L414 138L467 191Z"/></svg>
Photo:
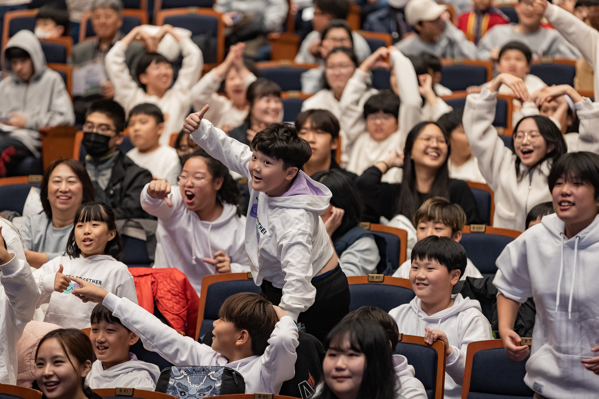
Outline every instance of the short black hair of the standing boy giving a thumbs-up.
<svg viewBox="0 0 599 399"><path fill-rule="evenodd" d="M289 123L272 123L252 139L252 150L283 161L283 169L295 166L301 169L310 157L312 149L299 137L295 126Z"/></svg>

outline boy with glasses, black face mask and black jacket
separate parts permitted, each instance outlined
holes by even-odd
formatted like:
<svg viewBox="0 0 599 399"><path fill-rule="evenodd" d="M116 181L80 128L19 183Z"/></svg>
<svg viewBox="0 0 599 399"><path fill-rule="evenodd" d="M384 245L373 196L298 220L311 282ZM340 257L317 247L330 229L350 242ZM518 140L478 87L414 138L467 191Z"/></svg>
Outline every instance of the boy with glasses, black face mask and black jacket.
<svg viewBox="0 0 599 399"><path fill-rule="evenodd" d="M117 219L153 218L141 209L140 195L152 173L117 148L123 142L125 110L113 100L97 100L87 110L81 145L96 189L96 200L110 205Z"/></svg>

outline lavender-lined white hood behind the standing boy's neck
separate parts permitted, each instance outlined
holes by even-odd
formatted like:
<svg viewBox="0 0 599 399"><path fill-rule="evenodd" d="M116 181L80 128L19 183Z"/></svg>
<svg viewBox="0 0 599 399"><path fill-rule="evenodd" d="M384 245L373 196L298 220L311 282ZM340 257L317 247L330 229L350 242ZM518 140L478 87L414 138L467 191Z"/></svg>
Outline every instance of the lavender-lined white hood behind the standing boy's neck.
<svg viewBox="0 0 599 399"><path fill-rule="evenodd" d="M300 208L325 213L329 207L332 194L326 185L312 180L302 170L299 170L291 188L280 197L268 197L268 205L281 208Z"/></svg>

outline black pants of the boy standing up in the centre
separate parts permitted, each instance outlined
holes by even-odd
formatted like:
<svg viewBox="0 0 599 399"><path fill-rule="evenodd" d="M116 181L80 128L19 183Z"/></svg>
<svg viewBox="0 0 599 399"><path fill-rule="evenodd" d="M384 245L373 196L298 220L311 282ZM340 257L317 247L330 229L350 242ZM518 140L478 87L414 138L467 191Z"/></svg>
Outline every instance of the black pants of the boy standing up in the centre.
<svg viewBox="0 0 599 399"><path fill-rule="evenodd" d="M329 331L349 313L349 284L338 264L325 276L313 278L311 284L316 288L316 298L308 310L299 313L298 323L303 322L306 333L324 342ZM273 287L266 280L262 281L261 288L264 296L273 304L281 303L281 288Z"/></svg>

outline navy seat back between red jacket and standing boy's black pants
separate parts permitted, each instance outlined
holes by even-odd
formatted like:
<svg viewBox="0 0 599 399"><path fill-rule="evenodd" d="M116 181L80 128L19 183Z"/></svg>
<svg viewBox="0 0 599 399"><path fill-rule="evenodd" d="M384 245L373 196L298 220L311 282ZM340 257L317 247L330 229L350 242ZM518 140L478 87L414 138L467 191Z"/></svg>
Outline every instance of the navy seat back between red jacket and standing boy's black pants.
<svg viewBox="0 0 599 399"><path fill-rule="evenodd" d="M225 299L237 293L261 293L251 273L226 273L205 276L202 279L202 290L199 296L198 327L196 337L212 331L212 323L219 318L220 306Z"/></svg>

